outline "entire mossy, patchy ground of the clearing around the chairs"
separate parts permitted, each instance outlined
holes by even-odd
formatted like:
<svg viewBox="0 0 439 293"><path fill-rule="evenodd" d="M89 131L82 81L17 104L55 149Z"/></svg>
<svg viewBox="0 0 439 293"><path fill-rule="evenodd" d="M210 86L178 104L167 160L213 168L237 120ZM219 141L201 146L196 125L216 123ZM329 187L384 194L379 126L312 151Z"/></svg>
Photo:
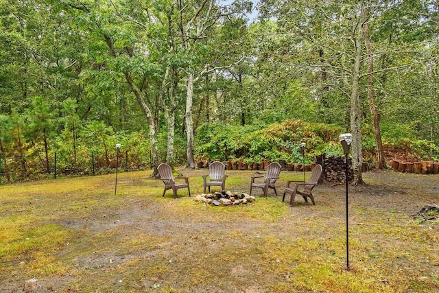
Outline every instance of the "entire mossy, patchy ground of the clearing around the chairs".
<svg viewBox="0 0 439 293"><path fill-rule="evenodd" d="M180 171L202 192L206 170ZM252 171L228 172L248 192ZM367 172L315 189L316 206L261 191L252 204L211 207L148 172L0 186L0 292L438 292L439 176ZM309 177L309 173L307 174ZM215 190L215 187L213 187Z"/></svg>

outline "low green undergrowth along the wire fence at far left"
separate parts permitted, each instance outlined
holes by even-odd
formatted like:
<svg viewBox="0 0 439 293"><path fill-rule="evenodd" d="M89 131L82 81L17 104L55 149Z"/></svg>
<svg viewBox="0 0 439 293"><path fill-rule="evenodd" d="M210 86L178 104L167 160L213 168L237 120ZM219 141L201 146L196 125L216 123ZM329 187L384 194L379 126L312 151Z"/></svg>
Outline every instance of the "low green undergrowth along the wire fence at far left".
<svg viewBox="0 0 439 293"><path fill-rule="evenodd" d="M45 124L43 121L39 121L38 124L26 125L24 124L25 118L15 111L10 116L0 116L2 174L3 178L8 181L47 176L43 175L46 172L44 140L36 139L36 136L30 135L34 133L31 130L40 131ZM115 133L104 122L91 121L83 128L77 125L73 139L71 126L75 119L71 118L66 120L66 127L62 132L49 140L47 156L52 174L55 166L55 154L58 176L62 174L91 174L92 154L96 173L112 172L111 168L116 167L116 143L122 145L119 167L125 167L126 163L128 163L126 169L130 170L150 167L151 148L145 133ZM128 160L126 159L127 155Z"/></svg>

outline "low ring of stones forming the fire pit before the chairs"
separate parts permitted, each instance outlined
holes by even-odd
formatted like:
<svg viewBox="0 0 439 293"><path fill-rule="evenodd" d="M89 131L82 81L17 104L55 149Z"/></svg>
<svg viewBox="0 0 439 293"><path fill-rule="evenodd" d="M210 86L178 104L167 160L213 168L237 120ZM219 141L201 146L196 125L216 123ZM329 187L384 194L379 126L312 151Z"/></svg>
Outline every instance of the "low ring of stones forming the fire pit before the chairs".
<svg viewBox="0 0 439 293"><path fill-rule="evenodd" d="M231 204L246 204L255 200L254 196L248 194L239 194L238 192L222 191L213 194L199 194L193 198L195 202L206 202L206 204L231 205Z"/></svg>

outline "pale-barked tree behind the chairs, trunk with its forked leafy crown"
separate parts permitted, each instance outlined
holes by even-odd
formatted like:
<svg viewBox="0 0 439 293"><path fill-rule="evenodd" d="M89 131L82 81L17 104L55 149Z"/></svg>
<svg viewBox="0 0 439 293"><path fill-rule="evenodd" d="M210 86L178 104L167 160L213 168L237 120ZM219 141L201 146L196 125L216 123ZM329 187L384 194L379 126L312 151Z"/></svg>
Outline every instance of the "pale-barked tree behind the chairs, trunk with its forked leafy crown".
<svg viewBox="0 0 439 293"><path fill-rule="evenodd" d="M235 3L236 4L236 3ZM246 9L251 4L243 1L241 3ZM206 73L213 72L219 65L219 61L227 54L227 46L220 49L206 46L206 42L213 38L215 28L220 24L220 20L228 14L243 14L246 10L241 6L235 5L232 8L219 5L217 0L202 1L181 1L177 0L178 6L178 34L176 34L176 51L182 53L188 62L183 63L180 67L185 72L186 87L186 110L185 110L185 130L187 134L187 163L186 167L194 168L195 160L193 157L194 131L193 128L193 99L194 85ZM250 5L250 6L248 6ZM224 40L228 43L228 40ZM239 62L236 61L236 62Z"/></svg>

